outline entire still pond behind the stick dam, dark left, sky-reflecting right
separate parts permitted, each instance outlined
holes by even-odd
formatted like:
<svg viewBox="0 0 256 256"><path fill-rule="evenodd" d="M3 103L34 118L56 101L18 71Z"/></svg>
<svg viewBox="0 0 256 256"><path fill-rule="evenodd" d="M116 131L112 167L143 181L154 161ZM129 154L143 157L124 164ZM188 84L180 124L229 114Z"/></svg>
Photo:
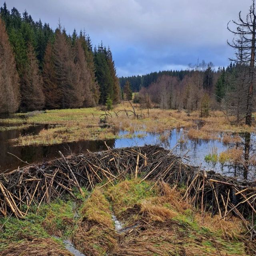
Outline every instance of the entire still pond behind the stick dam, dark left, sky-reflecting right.
<svg viewBox="0 0 256 256"><path fill-rule="evenodd" d="M104 141L82 141L71 142L50 146L14 146L14 143L10 140L18 138L20 135L25 134L38 134L40 130L47 128L45 125L32 126L24 130L9 130L0 132L0 172L6 172L18 168L18 166L26 165L24 162L35 163L42 162L42 160L52 159L59 157L58 150L61 150L63 154L80 153L86 150L92 152L105 150L106 145ZM125 138L127 132L120 131L119 135L123 138L106 140L106 143L111 148L122 148L130 146L144 146L161 144L164 148L172 150L177 156L181 156L185 162L190 164L201 166L206 170L214 170L221 172L228 176L245 176L244 166L233 165L221 165L217 163L215 166L208 164L205 161L205 156L216 148L218 153L227 150L234 146L234 144L224 144L220 140L198 140L189 139L186 136L186 129L173 129L159 133L146 133L136 132L135 137ZM141 136L143 135L143 136ZM162 137L163 139L160 140ZM256 152L255 150L255 134L240 134L242 142L239 146L244 148L244 151L248 151L248 157ZM249 136L249 141L248 141ZM179 143L182 142L182 143ZM247 146L246 146L247 145ZM11 154L9 154L9 153ZM15 156L13 156L14 154ZM21 162L18 158L22 159ZM254 177L255 166L246 166L249 169L250 178Z"/></svg>

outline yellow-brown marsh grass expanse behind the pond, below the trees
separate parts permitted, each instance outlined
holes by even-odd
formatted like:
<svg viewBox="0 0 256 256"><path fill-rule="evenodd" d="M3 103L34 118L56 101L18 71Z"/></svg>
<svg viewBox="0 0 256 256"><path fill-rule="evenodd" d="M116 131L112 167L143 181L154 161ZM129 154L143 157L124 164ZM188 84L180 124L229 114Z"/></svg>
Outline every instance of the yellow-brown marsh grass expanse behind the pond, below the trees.
<svg viewBox="0 0 256 256"><path fill-rule="evenodd" d="M110 112L112 117L108 117L107 121L111 127L101 128L99 125L100 116L104 114L100 108L81 108L66 110L47 110L45 113L39 113L28 117L27 124L54 124L56 127L42 130L38 135L26 135L15 140L20 145L32 144L60 144L64 142L73 142L80 140L104 140L108 138L116 138L115 130L125 130L128 132L164 132L172 128L186 127L189 130L190 138L201 138L206 140L219 139L218 135L231 132L252 132L254 126L231 125L226 116L215 111L210 113L207 118L200 118L200 111L191 112L188 115L184 110L162 110L160 108L140 109L133 104L136 113L144 114L145 118L137 119L133 115L127 116L125 112L120 110L132 110L129 102L123 102L114 106ZM18 117L18 114L17 114ZM101 117L103 118L103 117ZM202 120L204 126L200 130L196 130L196 121ZM20 123L24 120L20 118L12 118L3 120L3 122ZM237 141L238 137L228 138L224 140Z"/></svg>

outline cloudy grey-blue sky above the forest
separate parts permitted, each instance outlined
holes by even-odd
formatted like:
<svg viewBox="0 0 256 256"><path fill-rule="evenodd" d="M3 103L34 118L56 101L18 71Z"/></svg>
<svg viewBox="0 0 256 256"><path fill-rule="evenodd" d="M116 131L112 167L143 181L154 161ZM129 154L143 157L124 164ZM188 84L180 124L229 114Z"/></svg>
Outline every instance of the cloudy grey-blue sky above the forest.
<svg viewBox="0 0 256 256"><path fill-rule="evenodd" d="M4 1L2 1L2 4ZM86 30L109 45L118 76L185 69L197 59L226 66L233 52L226 29L251 0L6 0L34 20L67 32Z"/></svg>

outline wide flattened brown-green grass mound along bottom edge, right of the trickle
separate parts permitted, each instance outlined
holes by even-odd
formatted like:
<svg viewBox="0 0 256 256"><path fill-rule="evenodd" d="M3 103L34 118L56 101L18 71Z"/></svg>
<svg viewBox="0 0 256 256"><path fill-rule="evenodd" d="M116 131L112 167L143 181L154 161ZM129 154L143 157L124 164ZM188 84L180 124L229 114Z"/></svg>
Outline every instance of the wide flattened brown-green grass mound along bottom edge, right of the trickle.
<svg viewBox="0 0 256 256"><path fill-rule="evenodd" d="M244 245L232 245L213 237L210 232L194 232L191 228L182 229L172 221L144 224L135 232L121 236L119 245L110 253L112 256L246 256Z"/></svg>

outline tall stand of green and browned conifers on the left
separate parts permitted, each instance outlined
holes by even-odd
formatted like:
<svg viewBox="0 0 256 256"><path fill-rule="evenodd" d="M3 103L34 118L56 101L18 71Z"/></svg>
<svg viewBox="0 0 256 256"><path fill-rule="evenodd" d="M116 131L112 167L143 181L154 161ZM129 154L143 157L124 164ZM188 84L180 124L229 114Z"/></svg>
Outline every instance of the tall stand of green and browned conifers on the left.
<svg viewBox="0 0 256 256"><path fill-rule="evenodd" d="M84 31L52 30L6 3L0 8L0 113L80 108L121 98L110 48Z"/></svg>

